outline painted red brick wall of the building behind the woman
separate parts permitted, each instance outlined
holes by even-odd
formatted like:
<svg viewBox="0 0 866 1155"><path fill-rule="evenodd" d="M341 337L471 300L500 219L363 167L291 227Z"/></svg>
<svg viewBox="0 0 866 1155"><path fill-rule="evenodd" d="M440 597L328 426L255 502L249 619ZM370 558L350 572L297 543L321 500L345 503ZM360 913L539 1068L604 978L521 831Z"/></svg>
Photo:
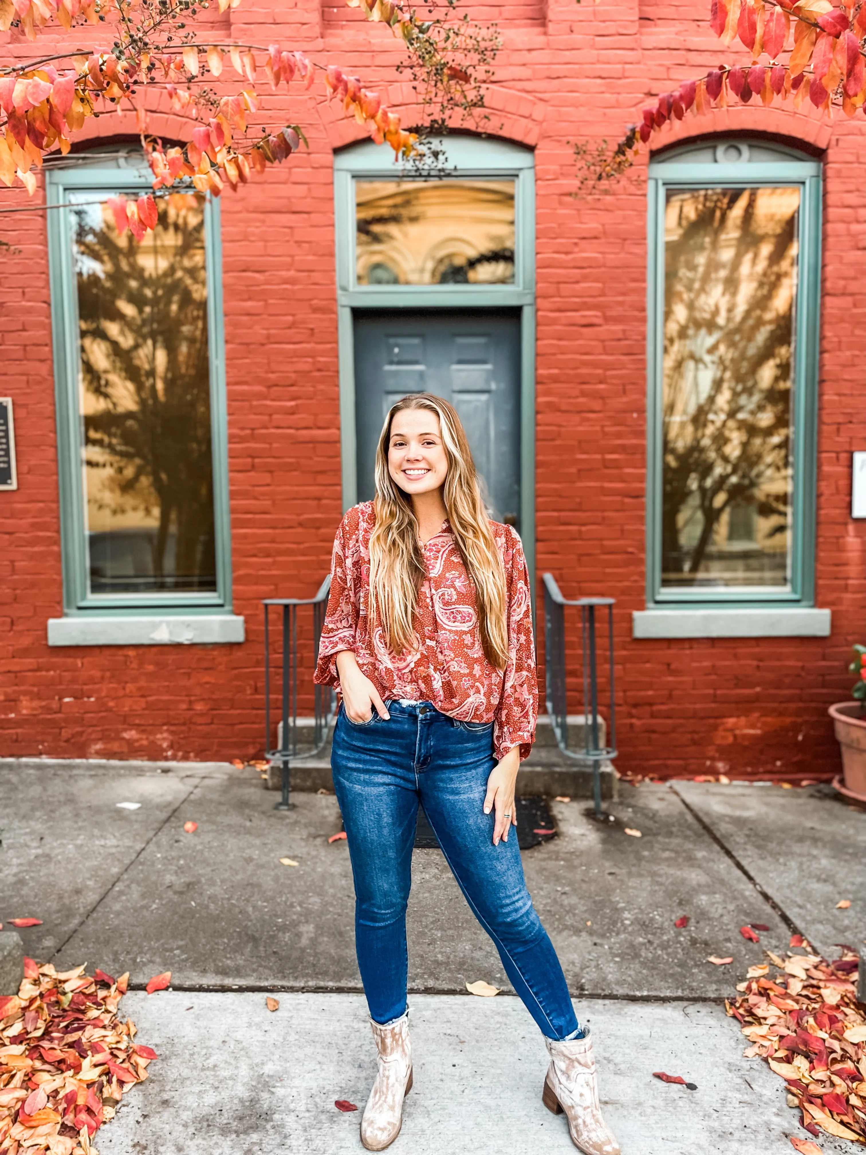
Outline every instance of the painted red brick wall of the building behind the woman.
<svg viewBox="0 0 866 1155"><path fill-rule="evenodd" d="M849 517L864 447L866 121L737 109L675 129L759 131L826 159L818 597L829 639L635 641L644 606L645 158L607 196L575 200L580 139L615 140L649 94L724 51L693 6L609 0L500 10L490 127L536 148L538 231L537 571L567 596L614 596L619 766L660 775L826 777L838 769L827 706L849 696L866 640L866 529ZM244 0L219 37L301 47L365 83L397 82L381 27L336 3ZM480 6L472 10L481 12ZM521 21L523 23L521 24ZM619 23L615 23L619 21ZM0 38L0 52L29 47ZM341 512L331 149L357 129L320 98L267 91L269 122L299 121L311 150L223 198L234 606L244 646L48 649L62 612L44 214L0 216L3 385L15 398L20 489L0 494L0 755L225 759L262 745L262 597L311 595ZM165 118L166 135L188 126ZM129 132L106 117L105 135ZM665 133L659 144L677 139ZM42 196L42 192L37 194ZM2 204L10 203L3 195Z"/></svg>

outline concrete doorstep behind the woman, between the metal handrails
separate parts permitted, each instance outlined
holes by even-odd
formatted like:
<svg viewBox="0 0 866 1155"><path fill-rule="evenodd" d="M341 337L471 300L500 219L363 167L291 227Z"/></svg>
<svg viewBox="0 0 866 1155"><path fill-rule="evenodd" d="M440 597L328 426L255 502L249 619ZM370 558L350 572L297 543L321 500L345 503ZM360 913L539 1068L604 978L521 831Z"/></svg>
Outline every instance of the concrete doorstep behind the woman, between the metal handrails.
<svg viewBox="0 0 866 1155"><path fill-rule="evenodd" d="M316 790L334 790L334 778L330 769L330 743L334 733L331 725L328 738L320 751L312 751L312 718L298 718L298 753L289 759L289 783L291 790L301 793ZM308 739L305 742L304 739ZM583 717L569 717L569 747L583 748ZM604 720L599 718L599 738L605 740ZM279 738L277 739L279 740ZM613 765L604 761L600 765L602 798L606 802L617 797L617 773ZM268 767L263 780L266 790L281 790L283 781L282 763L275 759ZM550 717L542 715L536 729L536 743L532 753L521 766L517 776L518 795L555 797L567 795L570 798L591 798L593 795L593 768L589 759L563 754L557 745L557 738Z"/></svg>

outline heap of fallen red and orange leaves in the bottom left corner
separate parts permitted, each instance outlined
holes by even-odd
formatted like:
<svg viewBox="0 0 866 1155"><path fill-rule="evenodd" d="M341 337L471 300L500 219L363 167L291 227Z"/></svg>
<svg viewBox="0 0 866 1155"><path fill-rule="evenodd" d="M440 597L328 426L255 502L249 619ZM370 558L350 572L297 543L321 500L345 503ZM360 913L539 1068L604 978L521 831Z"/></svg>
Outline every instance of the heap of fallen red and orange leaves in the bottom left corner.
<svg viewBox="0 0 866 1155"><path fill-rule="evenodd" d="M24 960L0 998L0 1155L98 1155L90 1140L157 1057L118 1019L128 978Z"/></svg>

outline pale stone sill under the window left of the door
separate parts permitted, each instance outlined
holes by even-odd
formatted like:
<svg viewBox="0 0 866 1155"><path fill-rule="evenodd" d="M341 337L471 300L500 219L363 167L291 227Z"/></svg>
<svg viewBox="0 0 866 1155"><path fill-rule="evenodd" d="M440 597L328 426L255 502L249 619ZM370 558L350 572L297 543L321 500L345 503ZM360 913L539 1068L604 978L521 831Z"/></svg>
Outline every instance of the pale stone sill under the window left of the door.
<svg viewBox="0 0 866 1155"><path fill-rule="evenodd" d="M48 619L48 646L218 646L242 641L244 618L230 613Z"/></svg>

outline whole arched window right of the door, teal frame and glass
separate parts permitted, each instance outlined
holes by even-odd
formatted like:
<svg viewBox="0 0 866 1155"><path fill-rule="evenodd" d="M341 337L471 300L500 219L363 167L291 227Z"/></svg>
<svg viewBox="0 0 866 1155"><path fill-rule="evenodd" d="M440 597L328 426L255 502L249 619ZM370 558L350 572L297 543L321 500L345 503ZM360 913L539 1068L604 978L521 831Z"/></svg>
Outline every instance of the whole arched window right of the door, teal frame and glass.
<svg viewBox="0 0 866 1155"><path fill-rule="evenodd" d="M648 608L801 632L761 608L814 597L821 165L721 140L649 176Z"/></svg>

